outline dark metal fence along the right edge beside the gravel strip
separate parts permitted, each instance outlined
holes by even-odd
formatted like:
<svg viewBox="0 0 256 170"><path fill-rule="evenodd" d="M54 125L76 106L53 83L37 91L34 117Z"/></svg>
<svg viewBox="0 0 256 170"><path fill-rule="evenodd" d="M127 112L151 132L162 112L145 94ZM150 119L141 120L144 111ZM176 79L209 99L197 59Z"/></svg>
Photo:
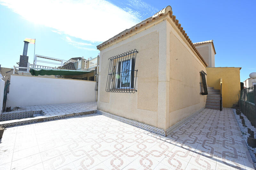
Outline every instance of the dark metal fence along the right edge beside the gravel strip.
<svg viewBox="0 0 256 170"><path fill-rule="evenodd" d="M250 120L252 126L256 127L256 85L254 87L241 90L240 94L240 110Z"/></svg>

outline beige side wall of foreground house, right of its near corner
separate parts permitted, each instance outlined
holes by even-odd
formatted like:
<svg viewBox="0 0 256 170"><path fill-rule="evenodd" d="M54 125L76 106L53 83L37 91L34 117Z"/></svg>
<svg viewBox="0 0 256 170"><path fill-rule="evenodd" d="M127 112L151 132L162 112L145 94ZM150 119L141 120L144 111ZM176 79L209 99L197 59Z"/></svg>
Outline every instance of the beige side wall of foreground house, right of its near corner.
<svg viewBox="0 0 256 170"><path fill-rule="evenodd" d="M201 82L199 72L201 70L206 72L205 65L173 24L172 20L167 24L167 31L170 37L168 41L170 47L168 127L204 108L206 102L206 96L200 95L199 84Z"/></svg>

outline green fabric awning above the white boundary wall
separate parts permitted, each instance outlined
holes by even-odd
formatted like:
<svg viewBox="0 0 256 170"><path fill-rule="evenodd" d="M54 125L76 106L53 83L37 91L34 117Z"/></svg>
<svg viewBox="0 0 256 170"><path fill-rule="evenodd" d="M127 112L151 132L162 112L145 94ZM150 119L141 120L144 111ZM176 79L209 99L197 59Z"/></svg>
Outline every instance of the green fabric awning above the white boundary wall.
<svg viewBox="0 0 256 170"><path fill-rule="evenodd" d="M73 70L60 70L60 69L51 69L51 70L34 70L30 68L31 75L82 75L86 73L91 73L93 71L73 71Z"/></svg>

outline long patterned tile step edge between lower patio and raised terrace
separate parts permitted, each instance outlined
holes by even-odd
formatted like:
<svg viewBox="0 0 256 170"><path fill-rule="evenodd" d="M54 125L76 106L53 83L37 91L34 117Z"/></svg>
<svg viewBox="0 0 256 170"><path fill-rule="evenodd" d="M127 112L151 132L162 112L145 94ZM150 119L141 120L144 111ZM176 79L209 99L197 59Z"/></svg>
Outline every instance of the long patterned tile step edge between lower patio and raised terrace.
<svg viewBox="0 0 256 170"><path fill-rule="evenodd" d="M16 125L25 125L25 124L31 124L31 123L39 123L43 121L50 121L50 120L58 120L58 119L65 119L69 117L76 117L84 114L92 114L95 111L87 111L87 112L80 112L80 113L71 113L71 114L65 114L60 116L52 116L52 117L46 117L46 118L37 118L37 119L31 119L31 120L23 120L23 121L17 121L17 122L11 122L11 123L4 123L0 125L3 125L4 128L10 127L10 126L16 126Z"/></svg>

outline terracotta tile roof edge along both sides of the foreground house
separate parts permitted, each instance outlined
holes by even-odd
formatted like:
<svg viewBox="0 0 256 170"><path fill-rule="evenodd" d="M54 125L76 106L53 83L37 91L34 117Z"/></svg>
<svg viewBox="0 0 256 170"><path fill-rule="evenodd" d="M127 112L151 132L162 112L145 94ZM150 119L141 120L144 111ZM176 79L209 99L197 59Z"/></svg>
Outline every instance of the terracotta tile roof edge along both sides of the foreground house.
<svg viewBox="0 0 256 170"><path fill-rule="evenodd" d="M179 20L176 19L175 15L172 15L172 7L171 6L167 6L166 8L162 9L161 11L157 12L156 14L154 14L152 17L149 17L143 21L141 21L140 23L136 24L135 26L124 30L123 32L115 35L114 37L108 39L107 41L101 43L100 45L97 45L97 49L100 49L101 47L108 45L109 43L112 43L114 41L116 41L119 38L123 38L124 36L132 33L133 31L136 31L138 28L145 26L146 24L152 22L155 19L159 19L162 16L166 16L166 15L170 15L171 19L174 21L174 23L176 24L176 26L180 29L180 32L184 35L184 37L186 38L186 40L188 41L188 43L191 45L191 47L193 48L193 50L196 52L196 54L198 55L198 57L203 61L203 63L205 64L205 66L208 66L208 64L204 61L204 58L200 55L200 53L196 50L196 47L193 45L193 43L191 42L190 38L188 38L187 33L185 33L185 30L183 30L183 27L181 27L181 24L179 23Z"/></svg>

